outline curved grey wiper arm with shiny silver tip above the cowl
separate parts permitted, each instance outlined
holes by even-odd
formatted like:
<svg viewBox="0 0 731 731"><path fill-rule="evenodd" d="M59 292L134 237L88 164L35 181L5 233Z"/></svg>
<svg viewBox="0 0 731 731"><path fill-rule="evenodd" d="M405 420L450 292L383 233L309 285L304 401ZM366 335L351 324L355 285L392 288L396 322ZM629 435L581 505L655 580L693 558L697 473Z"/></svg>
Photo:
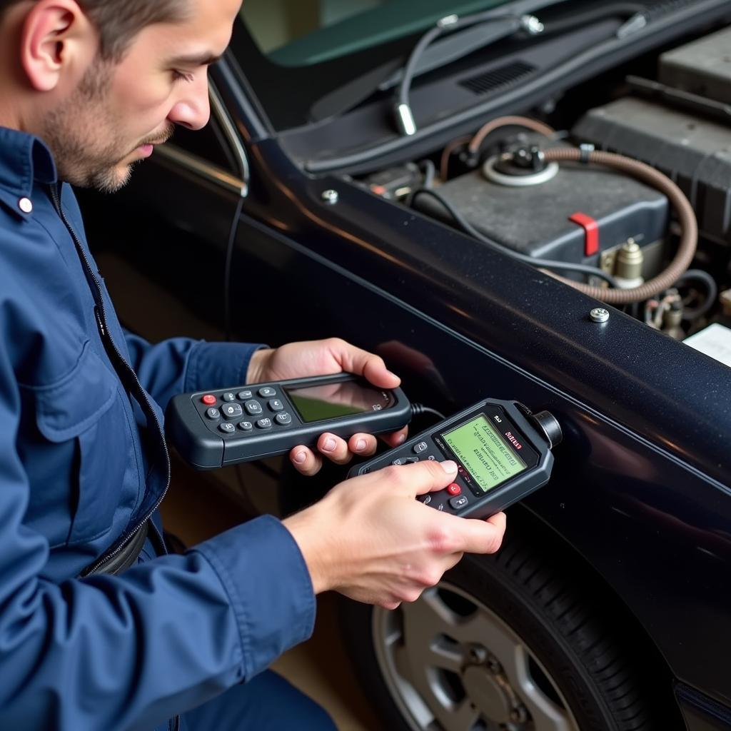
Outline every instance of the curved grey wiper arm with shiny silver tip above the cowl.
<svg viewBox="0 0 731 731"><path fill-rule="evenodd" d="M445 60L441 62L439 61L440 50L438 48L436 53L432 53L426 60L426 63L431 64L429 68L423 69L422 63L427 48L440 36L446 34L453 35L455 34L455 31L458 31L459 29L469 29L470 31L474 30L474 33L471 33L471 36L474 38L476 38L475 34L477 31L482 31L484 33L485 29L490 29L491 32L485 35L485 38L482 42L480 42L480 45L474 45L465 53L460 53L458 55L456 55L457 48L455 47L455 43L457 41L463 41L463 34L465 31L463 31L463 33L456 34L456 37L451 39L452 43L450 43L448 48L444 48L445 51L449 50L449 54L445 54ZM465 15L463 18L460 18L458 15L447 15L446 18L442 18L442 20L437 21L436 26L427 31L419 39L417 45L414 46L414 50L412 50L409 60L406 62L404 71L401 72L401 79L398 82L398 98L395 104L395 119L398 131L407 137L415 135L417 131L414 114L412 113L411 105L409 104L409 89L411 88L412 80L417 73L423 73L426 70L430 70L449 61L453 61L455 58L466 56L466 53L471 53L472 50L484 48L486 45L510 36L519 30L526 31L528 34L535 36L543 32L543 23L541 23L534 15L496 13L494 10L478 12L473 15Z"/></svg>

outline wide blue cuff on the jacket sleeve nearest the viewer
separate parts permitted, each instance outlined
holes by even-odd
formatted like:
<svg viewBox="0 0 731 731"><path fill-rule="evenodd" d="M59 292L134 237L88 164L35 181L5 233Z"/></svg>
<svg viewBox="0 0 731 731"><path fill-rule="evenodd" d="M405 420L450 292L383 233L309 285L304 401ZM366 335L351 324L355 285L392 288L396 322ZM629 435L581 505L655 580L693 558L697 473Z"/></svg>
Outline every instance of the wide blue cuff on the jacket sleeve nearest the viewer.
<svg viewBox="0 0 731 731"><path fill-rule="evenodd" d="M279 520L263 515L192 550L208 559L230 598L243 679L312 635L317 603L310 574L297 542Z"/></svg>

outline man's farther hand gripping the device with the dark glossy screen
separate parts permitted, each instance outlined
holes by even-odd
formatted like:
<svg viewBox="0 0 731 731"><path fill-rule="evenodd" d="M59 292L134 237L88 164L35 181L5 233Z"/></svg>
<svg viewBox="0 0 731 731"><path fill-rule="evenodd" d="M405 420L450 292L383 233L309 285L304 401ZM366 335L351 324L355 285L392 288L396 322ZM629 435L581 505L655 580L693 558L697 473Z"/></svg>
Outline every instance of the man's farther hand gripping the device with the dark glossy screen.
<svg viewBox="0 0 731 731"><path fill-rule="evenodd" d="M346 371L364 376L379 388L395 388L401 379L387 370L382 357L356 348L340 338L289 343L277 349L257 350L251 357L247 383L286 381L307 376L330 376ZM396 447L406 439L408 429L381 438ZM376 452L376 437L354 434L346 442L335 434L325 433L317 440L317 452L300 445L289 452L289 459L302 474L317 474L325 455L336 464L348 463L354 454L370 457Z"/></svg>

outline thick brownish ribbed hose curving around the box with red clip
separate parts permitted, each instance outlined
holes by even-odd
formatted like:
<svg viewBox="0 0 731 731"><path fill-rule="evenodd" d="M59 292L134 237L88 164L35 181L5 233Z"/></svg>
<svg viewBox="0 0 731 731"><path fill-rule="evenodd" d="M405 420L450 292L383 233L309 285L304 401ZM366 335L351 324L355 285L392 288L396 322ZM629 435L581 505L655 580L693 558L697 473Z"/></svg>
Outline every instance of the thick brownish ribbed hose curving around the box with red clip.
<svg viewBox="0 0 731 731"><path fill-rule="evenodd" d="M551 276L555 276L556 279L560 279L570 287L589 295L589 297L602 300L602 302L610 305L626 305L631 302L648 300L672 287L675 281L683 276L693 260L698 245L698 224L689 200L667 175L663 175L659 170L655 170L654 167L650 167L644 162L637 162L637 160L611 152L591 151L586 153L577 148L551 148L545 151L545 160L546 162L558 163L591 162L605 167L613 167L632 178L637 178L637 180L647 183L667 196L670 205L675 209L681 227L681 241L673 261L670 262L670 265L662 274L646 281L640 287L603 289L602 287L591 287L582 282L566 279L557 274L551 274Z"/></svg>

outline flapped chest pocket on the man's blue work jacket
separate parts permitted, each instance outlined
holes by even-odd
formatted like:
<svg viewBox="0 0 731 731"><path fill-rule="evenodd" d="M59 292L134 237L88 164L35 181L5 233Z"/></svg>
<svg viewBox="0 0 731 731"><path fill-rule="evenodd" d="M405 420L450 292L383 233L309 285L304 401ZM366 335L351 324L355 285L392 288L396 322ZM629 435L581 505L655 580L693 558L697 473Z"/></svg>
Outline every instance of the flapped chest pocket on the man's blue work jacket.
<svg viewBox="0 0 731 731"><path fill-rule="evenodd" d="M121 532L140 482L126 395L117 376L87 342L72 372L36 390L35 399L48 464L58 471L45 480L68 506L71 523L64 542L91 542L113 527Z"/></svg>

